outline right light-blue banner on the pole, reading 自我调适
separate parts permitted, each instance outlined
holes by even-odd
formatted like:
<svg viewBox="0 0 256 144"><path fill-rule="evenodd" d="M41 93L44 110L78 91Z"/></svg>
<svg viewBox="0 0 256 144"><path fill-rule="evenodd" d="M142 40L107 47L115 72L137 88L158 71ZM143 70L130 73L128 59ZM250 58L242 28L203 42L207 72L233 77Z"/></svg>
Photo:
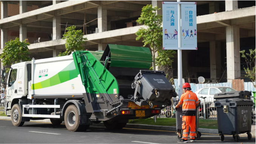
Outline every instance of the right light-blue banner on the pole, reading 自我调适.
<svg viewBox="0 0 256 144"><path fill-rule="evenodd" d="M181 47L197 47L196 5L181 5Z"/></svg>

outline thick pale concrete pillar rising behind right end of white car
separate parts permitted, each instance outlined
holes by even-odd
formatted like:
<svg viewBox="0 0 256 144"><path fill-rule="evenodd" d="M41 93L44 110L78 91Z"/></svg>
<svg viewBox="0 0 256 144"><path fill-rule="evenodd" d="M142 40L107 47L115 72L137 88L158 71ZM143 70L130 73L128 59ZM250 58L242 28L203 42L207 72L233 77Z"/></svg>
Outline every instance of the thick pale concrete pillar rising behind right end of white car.
<svg viewBox="0 0 256 144"><path fill-rule="evenodd" d="M240 37L239 27L226 27L227 44L227 79L231 83L233 79L241 77L240 69Z"/></svg>

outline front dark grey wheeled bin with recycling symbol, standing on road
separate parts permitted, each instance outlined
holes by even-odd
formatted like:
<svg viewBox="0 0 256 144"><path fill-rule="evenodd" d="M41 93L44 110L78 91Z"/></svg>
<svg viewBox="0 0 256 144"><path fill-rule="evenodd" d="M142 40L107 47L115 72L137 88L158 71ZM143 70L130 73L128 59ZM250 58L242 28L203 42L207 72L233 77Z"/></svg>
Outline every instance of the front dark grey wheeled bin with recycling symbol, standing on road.
<svg viewBox="0 0 256 144"><path fill-rule="evenodd" d="M218 131L221 141L224 135L233 135L239 141L241 133L251 139L251 107L253 102L244 99L227 99L215 103L217 108Z"/></svg>

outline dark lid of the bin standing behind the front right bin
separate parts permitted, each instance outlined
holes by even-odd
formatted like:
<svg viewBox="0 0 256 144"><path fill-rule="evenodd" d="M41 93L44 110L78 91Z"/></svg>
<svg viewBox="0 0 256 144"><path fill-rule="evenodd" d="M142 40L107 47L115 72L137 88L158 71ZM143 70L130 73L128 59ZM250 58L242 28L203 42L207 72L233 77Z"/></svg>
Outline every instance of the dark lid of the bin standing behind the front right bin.
<svg viewBox="0 0 256 144"><path fill-rule="evenodd" d="M230 97L237 97L238 98L238 97L245 97L245 96L250 97L251 92L247 91L247 90L234 91L234 92L221 92L221 93L216 93L213 98L230 98Z"/></svg>

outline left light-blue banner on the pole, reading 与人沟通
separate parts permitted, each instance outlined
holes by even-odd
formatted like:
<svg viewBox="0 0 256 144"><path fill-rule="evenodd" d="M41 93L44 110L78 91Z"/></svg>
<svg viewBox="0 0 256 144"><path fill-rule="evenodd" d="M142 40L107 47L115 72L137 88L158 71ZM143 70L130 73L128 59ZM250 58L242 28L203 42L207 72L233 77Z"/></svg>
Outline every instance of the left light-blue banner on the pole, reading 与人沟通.
<svg viewBox="0 0 256 144"><path fill-rule="evenodd" d="M178 5L163 5L163 47L178 47Z"/></svg>

